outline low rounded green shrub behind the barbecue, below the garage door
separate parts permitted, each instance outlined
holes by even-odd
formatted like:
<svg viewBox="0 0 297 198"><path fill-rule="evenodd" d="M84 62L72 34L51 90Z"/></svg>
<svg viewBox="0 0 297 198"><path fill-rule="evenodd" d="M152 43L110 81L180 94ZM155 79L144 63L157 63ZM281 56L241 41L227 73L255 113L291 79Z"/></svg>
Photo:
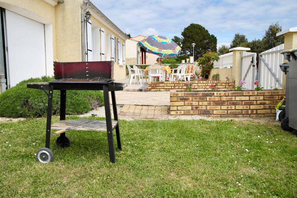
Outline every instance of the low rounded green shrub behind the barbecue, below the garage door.
<svg viewBox="0 0 297 198"><path fill-rule="evenodd" d="M52 77L30 78L0 94L0 117L31 118L47 113L48 97L42 90L29 89L26 83L48 82ZM87 113L104 104L102 91L67 91L66 114ZM60 113L60 91L53 91L53 115Z"/></svg>

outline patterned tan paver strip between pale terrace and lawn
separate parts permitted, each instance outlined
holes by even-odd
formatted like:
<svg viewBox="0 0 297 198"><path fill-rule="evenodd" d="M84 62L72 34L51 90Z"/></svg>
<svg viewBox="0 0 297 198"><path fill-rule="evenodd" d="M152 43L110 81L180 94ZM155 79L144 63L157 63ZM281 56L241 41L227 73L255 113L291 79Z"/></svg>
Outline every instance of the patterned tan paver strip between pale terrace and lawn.
<svg viewBox="0 0 297 198"><path fill-rule="evenodd" d="M139 106L124 105L119 112L119 118L147 118L160 119L169 118L169 106Z"/></svg>

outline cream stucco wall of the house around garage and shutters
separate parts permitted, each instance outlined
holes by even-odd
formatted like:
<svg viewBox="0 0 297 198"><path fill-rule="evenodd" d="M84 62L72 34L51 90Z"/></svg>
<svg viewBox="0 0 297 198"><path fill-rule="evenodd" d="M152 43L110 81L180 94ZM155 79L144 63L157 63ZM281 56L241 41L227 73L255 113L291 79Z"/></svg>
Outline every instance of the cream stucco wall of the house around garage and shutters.
<svg viewBox="0 0 297 198"><path fill-rule="evenodd" d="M43 0L1 0L0 6L1 4L8 4L9 6L25 9L51 23L53 31L53 61L75 62L82 61L82 3L82 0L65 0L64 3L58 3L56 6L53 6ZM90 9L91 7L87 10ZM21 13L18 14L21 15ZM95 14L97 15L97 13ZM97 18L104 21L105 24L106 21L99 15L96 18L94 15L91 16L92 23L96 23L100 28L105 28L105 52L107 51L106 32L115 35L116 38L119 38L121 42L125 43L125 40L119 37L119 32L112 31ZM123 80L125 76L125 66L114 63L114 79Z"/></svg>

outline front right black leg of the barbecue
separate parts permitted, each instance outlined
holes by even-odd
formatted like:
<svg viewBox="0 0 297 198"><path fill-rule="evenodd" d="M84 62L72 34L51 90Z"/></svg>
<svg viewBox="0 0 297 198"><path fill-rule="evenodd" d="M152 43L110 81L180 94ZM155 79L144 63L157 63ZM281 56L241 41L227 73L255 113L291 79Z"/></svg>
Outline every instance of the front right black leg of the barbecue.
<svg viewBox="0 0 297 198"><path fill-rule="evenodd" d="M112 130L109 94L108 94L107 86L103 86L103 95L104 95L104 107L105 107L106 129L107 129L107 138L108 138L109 159L110 159L110 162L115 163L116 158L115 158L115 153L114 153L113 130Z"/></svg>

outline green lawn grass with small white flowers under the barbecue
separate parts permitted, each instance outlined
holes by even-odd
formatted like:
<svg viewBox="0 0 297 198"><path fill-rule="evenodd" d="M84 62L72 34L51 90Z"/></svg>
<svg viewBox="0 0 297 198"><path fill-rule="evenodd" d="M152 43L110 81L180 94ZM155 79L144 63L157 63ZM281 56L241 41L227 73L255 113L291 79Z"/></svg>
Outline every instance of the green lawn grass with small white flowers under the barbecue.
<svg viewBox="0 0 297 198"><path fill-rule="evenodd" d="M106 132L81 131L41 164L45 123L0 123L0 197L297 197L296 136L275 124L120 121L116 164Z"/></svg>

